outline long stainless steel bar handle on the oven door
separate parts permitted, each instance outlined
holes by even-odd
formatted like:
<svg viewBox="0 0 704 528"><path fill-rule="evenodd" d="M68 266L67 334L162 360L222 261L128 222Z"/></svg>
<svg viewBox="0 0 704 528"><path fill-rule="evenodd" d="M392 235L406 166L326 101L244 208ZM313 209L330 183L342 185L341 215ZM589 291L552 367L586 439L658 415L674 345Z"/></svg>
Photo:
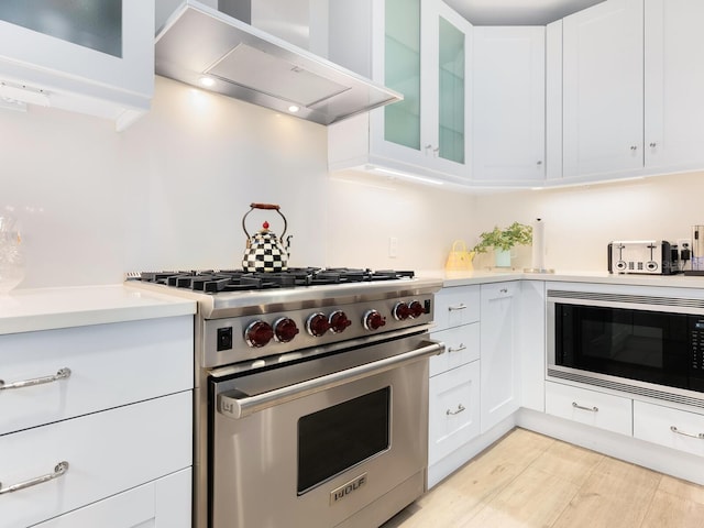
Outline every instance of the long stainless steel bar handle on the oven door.
<svg viewBox="0 0 704 528"><path fill-rule="evenodd" d="M382 372L398 369L400 366L425 360L431 355L440 354L444 351L444 343L436 341L425 341L424 345L405 352L403 354L385 358L372 363L333 372L320 377L307 380L295 385L276 388L254 396L246 396L238 391L218 394L218 413L229 418L244 418L245 416L258 413L260 410L274 407L297 398L302 398L315 393L320 393L332 387L344 385L358 380L380 374ZM240 394L241 397L237 395Z"/></svg>

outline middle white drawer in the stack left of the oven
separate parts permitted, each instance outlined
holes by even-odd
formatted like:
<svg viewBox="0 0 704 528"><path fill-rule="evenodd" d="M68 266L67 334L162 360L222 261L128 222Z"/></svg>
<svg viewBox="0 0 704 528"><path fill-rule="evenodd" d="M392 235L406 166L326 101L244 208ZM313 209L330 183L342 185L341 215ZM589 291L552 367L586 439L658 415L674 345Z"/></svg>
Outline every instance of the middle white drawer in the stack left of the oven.
<svg viewBox="0 0 704 528"><path fill-rule="evenodd" d="M191 465L191 392L0 437L2 526L32 526Z"/></svg>

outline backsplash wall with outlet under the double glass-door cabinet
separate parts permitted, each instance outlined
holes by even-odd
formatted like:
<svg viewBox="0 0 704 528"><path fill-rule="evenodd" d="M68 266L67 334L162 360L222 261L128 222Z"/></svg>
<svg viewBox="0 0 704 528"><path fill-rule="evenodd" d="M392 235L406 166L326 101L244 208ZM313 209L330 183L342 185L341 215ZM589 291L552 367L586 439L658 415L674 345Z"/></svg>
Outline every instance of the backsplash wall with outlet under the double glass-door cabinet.
<svg viewBox="0 0 704 528"><path fill-rule="evenodd" d="M332 175L328 195L331 266L442 270L457 239L474 231L475 197L436 187L365 176ZM389 239L397 239L397 256Z"/></svg>

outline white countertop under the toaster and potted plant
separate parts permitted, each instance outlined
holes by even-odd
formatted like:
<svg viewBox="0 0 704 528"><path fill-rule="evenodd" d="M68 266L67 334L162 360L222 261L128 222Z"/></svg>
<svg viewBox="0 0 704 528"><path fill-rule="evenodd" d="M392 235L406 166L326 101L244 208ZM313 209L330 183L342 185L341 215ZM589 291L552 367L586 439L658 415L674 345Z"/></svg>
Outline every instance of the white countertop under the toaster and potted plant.
<svg viewBox="0 0 704 528"><path fill-rule="evenodd" d="M704 276L688 275L619 275L608 272L560 272L525 273L520 270L496 271L475 270L473 272L421 272L420 277L442 279L443 287L472 284L499 283L502 280L548 280L568 283L600 283L635 286L662 286L675 288L704 288Z"/></svg>

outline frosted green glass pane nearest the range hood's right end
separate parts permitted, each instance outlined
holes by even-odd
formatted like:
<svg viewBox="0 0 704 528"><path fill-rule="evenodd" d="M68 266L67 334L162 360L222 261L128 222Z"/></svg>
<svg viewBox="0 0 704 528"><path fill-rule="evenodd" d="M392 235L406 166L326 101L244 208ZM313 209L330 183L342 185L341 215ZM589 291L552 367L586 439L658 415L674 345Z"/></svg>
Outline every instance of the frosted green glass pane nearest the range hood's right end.
<svg viewBox="0 0 704 528"><path fill-rule="evenodd" d="M386 0L384 84L404 100L384 107L384 139L420 150L420 0Z"/></svg>

